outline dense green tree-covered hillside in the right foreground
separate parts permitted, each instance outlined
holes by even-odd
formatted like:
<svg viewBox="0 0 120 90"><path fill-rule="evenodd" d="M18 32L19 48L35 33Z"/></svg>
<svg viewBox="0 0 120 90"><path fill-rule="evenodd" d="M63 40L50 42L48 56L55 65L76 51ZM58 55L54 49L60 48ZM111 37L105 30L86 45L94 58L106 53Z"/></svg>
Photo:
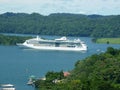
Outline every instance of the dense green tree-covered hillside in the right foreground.
<svg viewBox="0 0 120 90"><path fill-rule="evenodd" d="M37 90L120 90L120 49L109 47L105 53L78 61L62 82L52 82L57 78L54 73L47 78L36 81Z"/></svg>

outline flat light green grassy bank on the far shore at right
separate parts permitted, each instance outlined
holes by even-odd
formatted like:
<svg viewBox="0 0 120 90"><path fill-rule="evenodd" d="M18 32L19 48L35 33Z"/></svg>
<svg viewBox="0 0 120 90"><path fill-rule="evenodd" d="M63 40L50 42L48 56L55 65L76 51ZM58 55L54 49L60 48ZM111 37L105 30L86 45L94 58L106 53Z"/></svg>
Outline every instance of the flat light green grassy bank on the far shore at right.
<svg viewBox="0 0 120 90"><path fill-rule="evenodd" d="M120 38L98 38L96 43L120 44Z"/></svg>

